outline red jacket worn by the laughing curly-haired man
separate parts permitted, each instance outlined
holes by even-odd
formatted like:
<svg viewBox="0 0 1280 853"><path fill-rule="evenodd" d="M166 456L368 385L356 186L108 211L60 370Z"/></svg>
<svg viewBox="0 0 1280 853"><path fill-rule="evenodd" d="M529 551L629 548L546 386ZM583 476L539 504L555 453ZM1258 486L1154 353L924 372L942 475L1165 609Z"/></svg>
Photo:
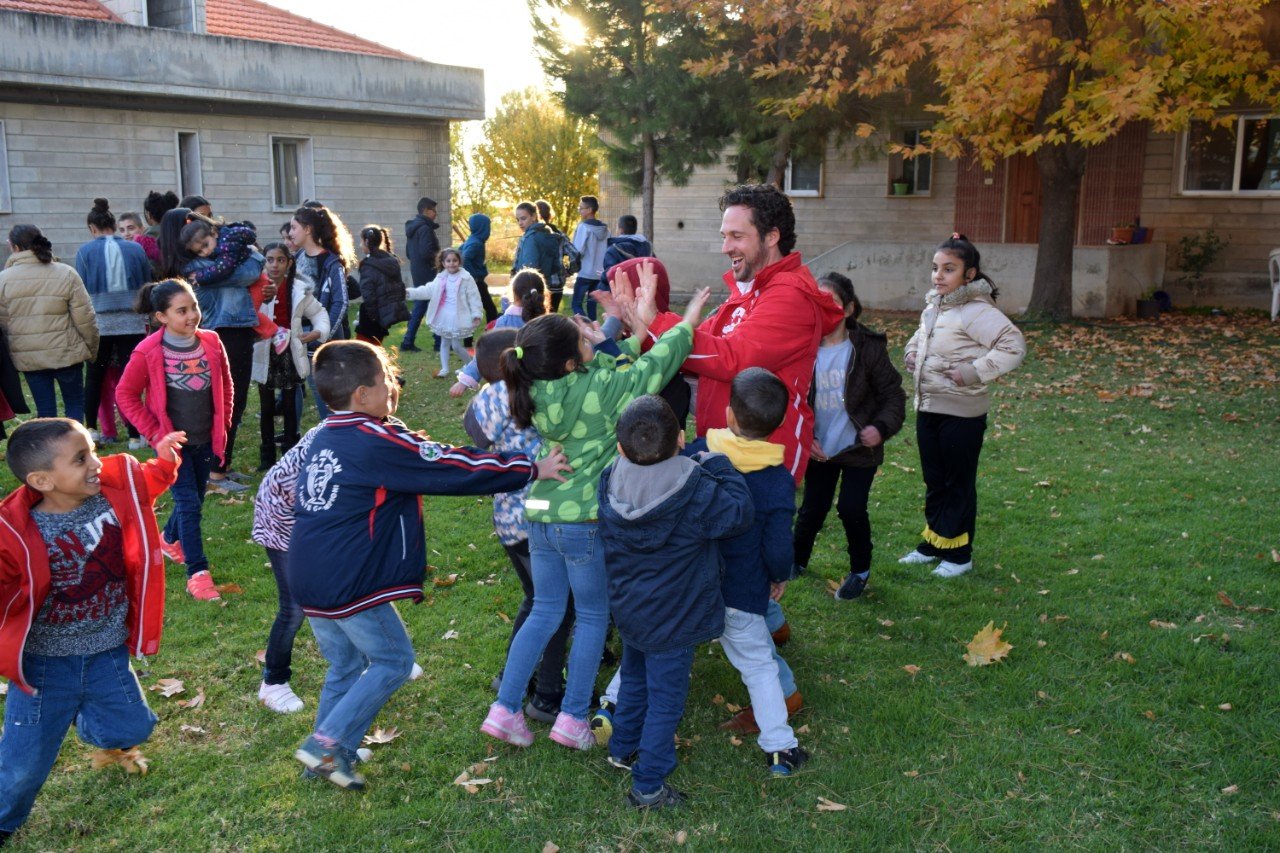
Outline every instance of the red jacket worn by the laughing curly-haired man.
<svg viewBox="0 0 1280 853"><path fill-rule="evenodd" d="M724 410L733 378L748 368L764 368L791 392L787 415L769 441L786 448L782 464L799 484L813 446L809 386L818 345L845 321L845 315L828 293L818 289L800 252L762 269L746 293L739 289L732 273L724 273L724 284L728 300L694 332L694 351L682 368L698 377L698 434L727 426ZM677 323L678 314L659 314L649 327L646 346Z"/></svg>

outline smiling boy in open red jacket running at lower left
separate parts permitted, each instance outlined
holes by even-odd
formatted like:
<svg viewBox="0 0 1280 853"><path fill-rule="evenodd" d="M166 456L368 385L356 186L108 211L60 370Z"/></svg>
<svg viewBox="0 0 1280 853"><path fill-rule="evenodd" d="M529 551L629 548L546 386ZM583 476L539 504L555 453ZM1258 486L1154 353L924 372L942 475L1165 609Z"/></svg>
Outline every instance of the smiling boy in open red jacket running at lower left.
<svg viewBox="0 0 1280 853"><path fill-rule="evenodd" d="M67 418L9 438L23 485L0 503L0 675L10 680L0 738L0 844L26 822L67 729L101 749L151 735L156 716L129 667L155 654L164 558L155 510L178 473L183 433L156 459L99 459Z"/></svg>

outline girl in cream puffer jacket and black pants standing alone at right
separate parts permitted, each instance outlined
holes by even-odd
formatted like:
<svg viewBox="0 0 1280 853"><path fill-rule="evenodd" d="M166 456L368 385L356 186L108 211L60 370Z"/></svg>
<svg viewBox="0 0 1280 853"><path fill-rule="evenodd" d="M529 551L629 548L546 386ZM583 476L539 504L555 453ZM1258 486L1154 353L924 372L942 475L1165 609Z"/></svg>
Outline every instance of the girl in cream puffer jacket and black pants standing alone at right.
<svg viewBox="0 0 1280 853"><path fill-rule="evenodd" d="M938 246L933 289L905 351L915 379L925 525L920 544L899 562L940 560L933 574L941 578L973 567L978 456L991 405L987 383L1027 355L1023 333L996 307L996 288L979 261L977 247L961 234Z"/></svg>

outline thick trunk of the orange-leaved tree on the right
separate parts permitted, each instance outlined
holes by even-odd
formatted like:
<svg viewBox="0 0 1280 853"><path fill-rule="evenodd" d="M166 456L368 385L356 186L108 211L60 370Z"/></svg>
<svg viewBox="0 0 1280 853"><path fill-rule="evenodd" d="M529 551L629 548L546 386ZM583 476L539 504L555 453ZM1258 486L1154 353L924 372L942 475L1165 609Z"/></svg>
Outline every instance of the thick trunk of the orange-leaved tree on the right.
<svg viewBox="0 0 1280 853"><path fill-rule="evenodd" d="M1053 320L1069 320L1084 149L1070 142L1046 145L1036 152L1036 164L1041 170L1041 237L1027 311Z"/></svg>

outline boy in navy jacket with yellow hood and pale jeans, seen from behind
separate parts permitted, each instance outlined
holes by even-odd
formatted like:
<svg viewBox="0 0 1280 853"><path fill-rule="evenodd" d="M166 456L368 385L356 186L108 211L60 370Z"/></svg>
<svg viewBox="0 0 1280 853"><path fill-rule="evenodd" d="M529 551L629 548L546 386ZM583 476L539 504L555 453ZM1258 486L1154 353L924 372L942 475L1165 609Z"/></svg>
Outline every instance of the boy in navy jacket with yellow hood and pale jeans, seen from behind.
<svg viewBox="0 0 1280 853"><path fill-rule="evenodd" d="M769 435L786 416L790 393L764 368L749 368L733 379L726 419L728 429L709 429L704 446L728 456L742 473L755 506L755 524L741 535L721 543L724 557L724 633L721 648L742 676L751 706L721 727L759 731L765 765L774 775L790 775L809 754L800 748L787 725L787 713L799 710L800 693L783 697L778 680L781 658L764 625L769 597L781 597L791 576L791 517L796 510L796 484L782 465L782 444ZM786 662L782 662L786 666ZM794 688L794 679L788 680ZM792 698L794 697L794 698ZM792 708L795 704L795 708Z"/></svg>

